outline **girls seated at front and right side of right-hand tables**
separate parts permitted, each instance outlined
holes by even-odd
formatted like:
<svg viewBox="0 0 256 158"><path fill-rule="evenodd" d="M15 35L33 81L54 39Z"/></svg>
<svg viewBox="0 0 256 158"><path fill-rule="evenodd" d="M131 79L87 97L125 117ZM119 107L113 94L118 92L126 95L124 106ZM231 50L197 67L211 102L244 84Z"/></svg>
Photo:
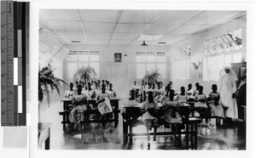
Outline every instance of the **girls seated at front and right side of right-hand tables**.
<svg viewBox="0 0 256 158"><path fill-rule="evenodd" d="M195 87L196 89L194 90L192 89L192 84L189 84L187 90L185 87L181 87L180 93L175 93L172 89L172 82L169 82L165 88L164 95L160 99L155 98L154 91L148 90L146 92L147 98L141 104L141 110L143 112L142 120L147 128L147 133L152 127L154 128L154 140L157 128L160 127L160 125L166 124L165 121L170 123L170 118L173 118L172 121L177 120L177 122L171 126L173 132L177 132L176 125L178 121L180 121L178 119L181 116L178 115L177 109L173 107L178 108L181 105L193 102L195 103L195 113L201 117L207 117L209 115L224 116L223 106L219 104L217 85L212 85L212 92L208 97L203 93L203 87L198 82L195 83ZM161 112L160 106L162 106ZM208 124L207 119L206 122ZM176 134L174 134L174 137L176 137ZM148 134L148 140L149 139Z"/></svg>

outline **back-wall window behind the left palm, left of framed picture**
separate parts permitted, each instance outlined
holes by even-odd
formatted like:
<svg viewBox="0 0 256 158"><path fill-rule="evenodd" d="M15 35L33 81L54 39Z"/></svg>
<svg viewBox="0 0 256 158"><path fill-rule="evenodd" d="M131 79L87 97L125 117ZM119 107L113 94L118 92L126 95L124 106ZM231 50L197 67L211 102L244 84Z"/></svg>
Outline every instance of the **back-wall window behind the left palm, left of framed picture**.
<svg viewBox="0 0 256 158"><path fill-rule="evenodd" d="M67 54L67 77L73 80L75 71L79 68L91 66L96 71L96 78L99 78L100 51L69 51Z"/></svg>

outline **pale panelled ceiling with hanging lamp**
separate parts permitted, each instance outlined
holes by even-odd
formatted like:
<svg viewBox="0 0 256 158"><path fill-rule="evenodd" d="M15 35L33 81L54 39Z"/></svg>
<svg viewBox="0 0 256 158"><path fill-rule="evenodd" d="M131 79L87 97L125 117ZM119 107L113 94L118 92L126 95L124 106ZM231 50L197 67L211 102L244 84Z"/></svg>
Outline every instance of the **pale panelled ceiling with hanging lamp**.
<svg viewBox="0 0 256 158"><path fill-rule="evenodd" d="M171 45L244 14L244 11L204 10L41 9L40 26L49 28L64 44L79 41L140 45L143 41L137 40L138 37L146 34L162 35L157 40L146 41L148 45Z"/></svg>

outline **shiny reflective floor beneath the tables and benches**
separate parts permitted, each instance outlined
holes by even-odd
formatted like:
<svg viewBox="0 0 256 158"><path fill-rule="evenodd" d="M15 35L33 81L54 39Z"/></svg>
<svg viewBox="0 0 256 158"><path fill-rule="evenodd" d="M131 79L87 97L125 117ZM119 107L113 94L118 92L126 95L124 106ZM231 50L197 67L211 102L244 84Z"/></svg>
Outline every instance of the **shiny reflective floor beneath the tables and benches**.
<svg viewBox="0 0 256 158"><path fill-rule="evenodd" d="M61 102L52 105L42 114L42 121L52 122L50 131L50 149L51 150L184 150L183 137L181 144L173 141L167 136L157 136L150 141L146 136L133 138L133 144L123 144L122 136L122 116L119 114L119 127L116 129L108 127L102 129L101 124L88 123L84 125L83 130L74 130L63 133L61 125L61 116L58 111L62 110ZM214 119L212 120L214 123ZM212 138L222 138L230 148L237 150L246 150L245 130L242 125L234 124L232 127L212 126L209 135L202 135L203 127L198 126L198 150L208 143ZM159 131L164 131L160 127ZM135 133L145 133L143 126L134 128Z"/></svg>

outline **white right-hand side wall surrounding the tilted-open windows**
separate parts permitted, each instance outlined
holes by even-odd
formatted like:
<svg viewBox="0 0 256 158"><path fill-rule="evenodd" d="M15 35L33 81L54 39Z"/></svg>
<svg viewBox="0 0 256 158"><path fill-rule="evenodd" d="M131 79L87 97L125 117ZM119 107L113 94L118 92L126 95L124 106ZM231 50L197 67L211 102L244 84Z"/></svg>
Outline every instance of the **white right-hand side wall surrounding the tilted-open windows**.
<svg viewBox="0 0 256 158"><path fill-rule="evenodd" d="M198 61L201 61L201 59L204 57L204 50L203 50L203 43L207 39L211 39L212 37L218 37L221 35L224 35L225 33L229 31L235 31L236 29L242 30L242 59L245 61L247 60L247 18L246 16L241 17L238 20L232 20L229 23L226 23L224 25L219 25L217 27L214 27L208 31L204 31L195 35L192 35L188 39L175 43L170 46L170 52L169 55L172 54L172 50L177 48L182 48L187 45L191 45L191 62L197 63ZM217 63L218 64L218 63ZM195 88L195 82L200 82L200 84L204 87L205 93L211 92L211 86L212 84L216 84L217 82L205 82L199 80L199 71L195 71L193 68L193 65L190 65L190 80L173 80L173 88L174 89L180 89L180 87L188 87L189 83L193 84L193 87Z"/></svg>

